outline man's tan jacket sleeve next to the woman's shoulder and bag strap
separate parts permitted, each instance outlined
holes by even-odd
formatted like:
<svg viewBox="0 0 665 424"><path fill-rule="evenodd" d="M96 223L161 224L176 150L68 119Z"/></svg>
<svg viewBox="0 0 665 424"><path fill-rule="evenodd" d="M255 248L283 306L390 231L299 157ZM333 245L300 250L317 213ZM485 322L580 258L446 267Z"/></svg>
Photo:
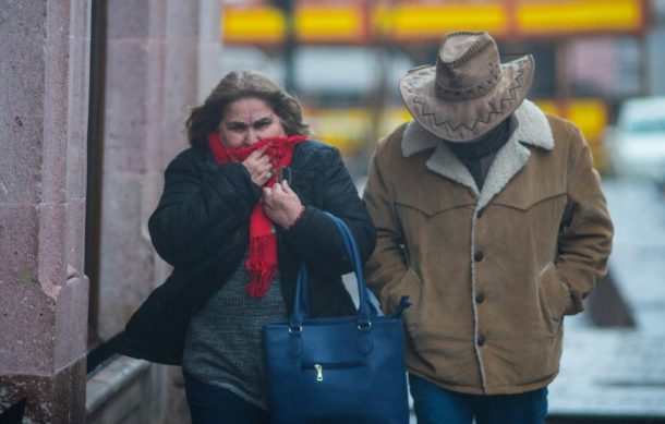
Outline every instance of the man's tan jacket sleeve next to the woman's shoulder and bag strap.
<svg viewBox="0 0 665 424"><path fill-rule="evenodd" d="M385 179L388 172L385 161L386 142L395 143L401 140L402 132L398 130L388 140L377 144L370 162L367 185L363 195L376 227L376 249L365 265L365 276L367 286L387 314L395 312L403 294L413 296L415 293L409 288L414 288L418 283L418 276L408 266L404 235L395 211L390 184Z"/></svg>

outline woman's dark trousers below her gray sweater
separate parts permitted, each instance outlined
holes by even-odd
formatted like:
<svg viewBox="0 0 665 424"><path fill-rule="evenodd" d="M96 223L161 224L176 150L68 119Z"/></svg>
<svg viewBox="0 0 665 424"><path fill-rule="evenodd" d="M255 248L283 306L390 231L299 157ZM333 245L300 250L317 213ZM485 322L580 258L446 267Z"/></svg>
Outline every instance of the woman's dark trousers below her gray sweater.
<svg viewBox="0 0 665 424"><path fill-rule="evenodd" d="M184 374L184 390L192 424L263 424L267 411L253 405L229 390L201 383Z"/></svg>

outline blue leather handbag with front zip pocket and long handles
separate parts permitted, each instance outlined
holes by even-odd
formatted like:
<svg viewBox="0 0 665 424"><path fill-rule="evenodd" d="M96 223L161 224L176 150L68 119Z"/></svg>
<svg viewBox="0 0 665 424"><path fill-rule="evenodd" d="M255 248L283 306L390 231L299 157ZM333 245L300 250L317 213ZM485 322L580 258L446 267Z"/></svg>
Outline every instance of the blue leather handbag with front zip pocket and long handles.
<svg viewBox="0 0 665 424"><path fill-rule="evenodd" d="M328 214L329 215L329 214ZM358 280L355 316L307 319L307 271L301 264L288 323L263 328L273 423L408 423L402 298L395 315L368 302L353 234L341 232Z"/></svg>

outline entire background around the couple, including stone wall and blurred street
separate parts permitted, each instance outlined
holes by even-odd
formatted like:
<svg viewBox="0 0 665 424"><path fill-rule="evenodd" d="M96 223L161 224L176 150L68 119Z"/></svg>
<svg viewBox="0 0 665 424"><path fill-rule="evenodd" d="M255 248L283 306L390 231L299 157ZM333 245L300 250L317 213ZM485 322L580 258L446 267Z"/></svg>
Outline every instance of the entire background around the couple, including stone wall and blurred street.
<svg viewBox="0 0 665 424"><path fill-rule="evenodd" d="M109 341L171 271L146 223L191 108L263 71L362 191L398 80L456 29L534 56L615 222L548 423L665 423L665 0L0 0L0 422L189 422L180 368Z"/></svg>

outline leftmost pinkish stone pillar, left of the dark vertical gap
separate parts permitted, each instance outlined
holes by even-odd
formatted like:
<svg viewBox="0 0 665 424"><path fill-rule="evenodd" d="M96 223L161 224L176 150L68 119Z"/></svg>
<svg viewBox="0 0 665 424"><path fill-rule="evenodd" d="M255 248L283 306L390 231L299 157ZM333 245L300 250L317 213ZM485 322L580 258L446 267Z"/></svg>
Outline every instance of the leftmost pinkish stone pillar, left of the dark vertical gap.
<svg viewBox="0 0 665 424"><path fill-rule="evenodd" d="M89 2L0 1L0 413L82 422Z"/></svg>

